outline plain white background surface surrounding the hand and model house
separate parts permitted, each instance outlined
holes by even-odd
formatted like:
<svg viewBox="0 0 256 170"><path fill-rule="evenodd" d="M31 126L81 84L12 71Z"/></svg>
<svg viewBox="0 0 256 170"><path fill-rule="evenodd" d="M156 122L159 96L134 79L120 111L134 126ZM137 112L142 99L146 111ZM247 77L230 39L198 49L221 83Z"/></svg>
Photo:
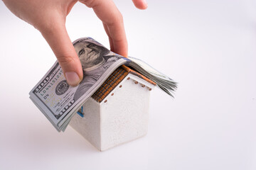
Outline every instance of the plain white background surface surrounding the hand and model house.
<svg viewBox="0 0 256 170"><path fill-rule="evenodd" d="M28 98L53 52L0 1L0 169L256 169L255 0L116 2L129 55L178 81L176 98L152 91L146 137L107 152L72 128L58 133ZM82 4L67 27L108 47Z"/></svg>

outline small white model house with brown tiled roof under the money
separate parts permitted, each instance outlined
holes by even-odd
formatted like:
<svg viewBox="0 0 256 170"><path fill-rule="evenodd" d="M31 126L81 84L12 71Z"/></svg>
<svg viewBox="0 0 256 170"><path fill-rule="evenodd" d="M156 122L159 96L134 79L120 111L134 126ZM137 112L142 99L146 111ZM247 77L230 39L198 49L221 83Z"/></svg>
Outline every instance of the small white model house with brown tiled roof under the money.
<svg viewBox="0 0 256 170"><path fill-rule="evenodd" d="M154 86L142 74L121 66L82 105L70 125L100 151L142 137Z"/></svg>

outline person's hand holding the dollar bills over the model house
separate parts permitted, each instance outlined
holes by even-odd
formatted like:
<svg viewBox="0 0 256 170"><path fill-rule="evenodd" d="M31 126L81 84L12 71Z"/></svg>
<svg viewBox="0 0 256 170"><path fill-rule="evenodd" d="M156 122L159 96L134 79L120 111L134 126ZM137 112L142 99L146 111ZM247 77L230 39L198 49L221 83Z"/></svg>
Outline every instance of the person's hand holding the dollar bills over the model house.
<svg viewBox="0 0 256 170"><path fill-rule="evenodd" d="M65 19L78 0L3 0L18 18L38 29L46 39L63 69L68 84L82 80L82 66L65 28ZM132 0L137 8L147 7L145 0ZM93 8L103 23L113 52L127 57L127 38L122 14L112 0L80 0Z"/></svg>

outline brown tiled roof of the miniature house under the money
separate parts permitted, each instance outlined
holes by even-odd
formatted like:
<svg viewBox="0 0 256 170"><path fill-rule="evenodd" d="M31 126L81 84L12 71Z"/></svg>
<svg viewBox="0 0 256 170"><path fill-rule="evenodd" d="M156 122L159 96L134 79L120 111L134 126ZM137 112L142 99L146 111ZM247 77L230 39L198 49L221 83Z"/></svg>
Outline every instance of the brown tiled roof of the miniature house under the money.
<svg viewBox="0 0 256 170"><path fill-rule="evenodd" d="M95 99L97 102L102 102L104 98L110 94L110 92L125 78L128 74L134 74L135 76L144 79L149 84L153 84L156 86L156 83L154 81L151 81L150 79L144 77L142 74L139 74L138 72L134 71L133 69L130 69L127 66L120 66L114 72L110 75L110 77L107 78L107 80L100 86L97 91L92 95L92 98ZM128 78L129 79L129 78Z"/></svg>

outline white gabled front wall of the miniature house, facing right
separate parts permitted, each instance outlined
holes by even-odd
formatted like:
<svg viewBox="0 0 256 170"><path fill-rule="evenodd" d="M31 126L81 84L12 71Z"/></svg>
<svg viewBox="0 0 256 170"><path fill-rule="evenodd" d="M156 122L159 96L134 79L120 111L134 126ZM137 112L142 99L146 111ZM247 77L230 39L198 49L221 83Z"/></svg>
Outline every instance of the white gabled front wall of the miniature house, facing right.
<svg viewBox="0 0 256 170"><path fill-rule="evenodd" d="M148 86L149 83L133 74L127 77L100 104L101 150L146 135L150 91L140 82Z"/></svg>

